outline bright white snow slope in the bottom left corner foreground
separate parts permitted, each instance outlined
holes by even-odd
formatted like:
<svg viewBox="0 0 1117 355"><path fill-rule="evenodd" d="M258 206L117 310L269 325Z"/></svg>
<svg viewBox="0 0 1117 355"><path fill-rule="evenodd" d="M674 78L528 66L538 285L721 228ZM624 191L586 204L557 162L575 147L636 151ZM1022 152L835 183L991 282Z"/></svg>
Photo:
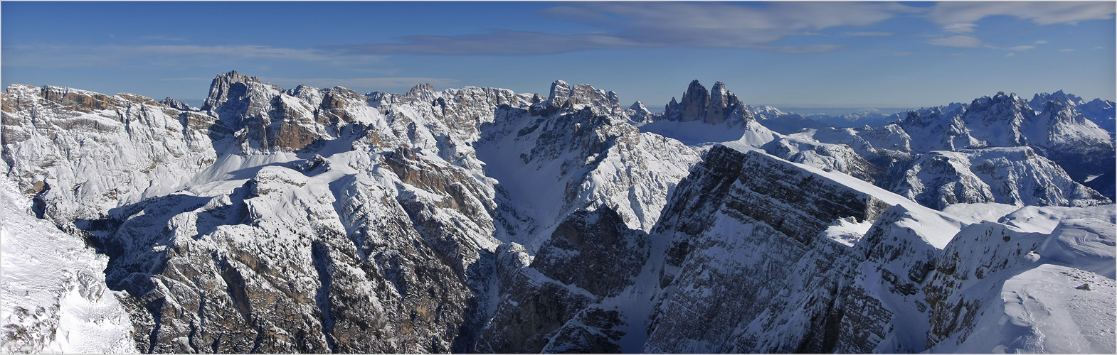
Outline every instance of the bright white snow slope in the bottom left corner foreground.
<svg viewBox="0 0 1117 355"><path fill-rule="evenodd" d="M108 258L31 215L31 201L0 182L3 224L0 322L6 353L135 353L133 326L105 286Z"/></svg>

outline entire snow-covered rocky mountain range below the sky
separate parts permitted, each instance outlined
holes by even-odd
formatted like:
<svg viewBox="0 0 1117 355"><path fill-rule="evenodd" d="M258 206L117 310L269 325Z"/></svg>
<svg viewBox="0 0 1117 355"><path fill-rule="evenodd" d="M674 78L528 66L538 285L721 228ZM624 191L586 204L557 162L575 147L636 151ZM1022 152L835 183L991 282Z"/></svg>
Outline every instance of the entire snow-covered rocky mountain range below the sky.
<svg viewBox="0 0 1117 355"><path fill-rule="evenodd" d="M1115 213L1079 182L1111 164L1102 104L834 128L722 83L658 114L617 97L9 86L4 346L1114 351ZM38 267L51 248L75 257Z"/></svg>

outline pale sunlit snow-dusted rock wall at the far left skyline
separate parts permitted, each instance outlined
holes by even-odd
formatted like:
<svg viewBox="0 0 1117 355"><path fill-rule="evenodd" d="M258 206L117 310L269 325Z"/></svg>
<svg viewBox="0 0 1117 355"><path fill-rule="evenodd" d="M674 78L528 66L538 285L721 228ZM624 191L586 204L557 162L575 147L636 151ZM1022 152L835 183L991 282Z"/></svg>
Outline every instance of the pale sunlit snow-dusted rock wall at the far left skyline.
<svg viewBox="0 0 1117 355"><path fill-rule="evenodd" d="M0 157L39 217L95 220L174 191L216 161L209 135L221 129L212 117L125 95L19 85L4 93L13 112L3 113Z"/></svg>

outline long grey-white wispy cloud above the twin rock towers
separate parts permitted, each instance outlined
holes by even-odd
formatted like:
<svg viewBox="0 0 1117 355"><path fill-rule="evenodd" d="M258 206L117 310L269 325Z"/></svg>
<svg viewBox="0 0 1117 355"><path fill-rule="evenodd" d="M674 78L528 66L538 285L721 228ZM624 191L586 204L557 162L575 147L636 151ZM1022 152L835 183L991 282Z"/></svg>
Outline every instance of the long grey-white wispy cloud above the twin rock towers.
<svg viewBox="0 0 1117 355"><path fill-rule="evenodd" d="M779 52L821 52L832 44L774 46L774 41L840 26L868 26L920 9L875 2L580 3L544 15L589 23L598 31L555 35L495 29L461 36L407 36L397 42L328 46L343 55L548 55L605 48L753 48ZM885 36L887 32L861 32ZM865 35L871 33L871 35Z"/></svg>

